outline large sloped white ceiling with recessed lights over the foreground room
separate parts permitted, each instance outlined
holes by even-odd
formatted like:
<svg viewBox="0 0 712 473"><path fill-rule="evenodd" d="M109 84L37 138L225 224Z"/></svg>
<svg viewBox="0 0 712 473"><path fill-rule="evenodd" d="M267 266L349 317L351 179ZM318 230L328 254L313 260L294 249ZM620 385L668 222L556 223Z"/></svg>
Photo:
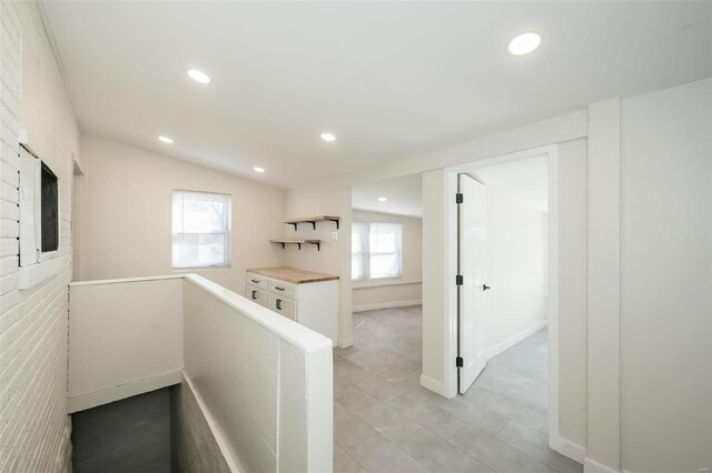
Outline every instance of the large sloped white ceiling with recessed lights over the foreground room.
<svg viewBox="0 0 712 473"><path fill-rule="evenodd" d="M43 8L85 133L284 188L712 70L711 2ZM543 34L537 51L505 52L530 30Z"/></svg>

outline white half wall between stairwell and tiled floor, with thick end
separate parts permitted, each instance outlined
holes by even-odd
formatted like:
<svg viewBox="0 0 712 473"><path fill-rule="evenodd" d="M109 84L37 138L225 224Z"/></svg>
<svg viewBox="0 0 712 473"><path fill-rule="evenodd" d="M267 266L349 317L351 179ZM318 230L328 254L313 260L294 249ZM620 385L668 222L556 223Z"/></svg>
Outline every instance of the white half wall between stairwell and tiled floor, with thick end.
<svg viewBox="0 0 712 473"><path fill-rule="evenodd" d="M240 471L332 471L332 340L201 278L184 291L186 379Z"/></svg>

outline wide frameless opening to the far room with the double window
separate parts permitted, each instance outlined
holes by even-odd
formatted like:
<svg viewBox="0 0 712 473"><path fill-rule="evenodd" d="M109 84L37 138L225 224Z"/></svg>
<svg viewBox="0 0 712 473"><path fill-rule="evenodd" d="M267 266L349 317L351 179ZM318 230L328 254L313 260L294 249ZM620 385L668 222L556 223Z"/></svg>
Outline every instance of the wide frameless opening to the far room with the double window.
<svg viewBox="0 0 712 473"><path fill-rule="evenodd" d="M421 174L352 189L350 359L388 382L417 383L422 359Z"/></svg>

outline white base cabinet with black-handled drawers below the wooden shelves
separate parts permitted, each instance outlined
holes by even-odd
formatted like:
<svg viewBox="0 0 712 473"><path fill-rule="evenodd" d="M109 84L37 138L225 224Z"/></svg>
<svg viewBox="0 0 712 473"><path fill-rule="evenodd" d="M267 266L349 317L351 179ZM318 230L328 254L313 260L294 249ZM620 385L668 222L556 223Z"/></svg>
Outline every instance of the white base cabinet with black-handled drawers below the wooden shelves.
<svg viewBox="0 0 712 473"><path fill-rule="evenodd" d="M290 269L269 269L271 275L293 273ZM257 270L255 270L257 271ZM295 270L290 270L295 271ZM307 276L304 276L307 274ZM332 339L336 346L338 336L338 280L309 281L308 272L299 272L300 279L285 281L253 271L247 272L245 295L267 309L294 320ZM324 279L315 273L313 279Z"/></svg>

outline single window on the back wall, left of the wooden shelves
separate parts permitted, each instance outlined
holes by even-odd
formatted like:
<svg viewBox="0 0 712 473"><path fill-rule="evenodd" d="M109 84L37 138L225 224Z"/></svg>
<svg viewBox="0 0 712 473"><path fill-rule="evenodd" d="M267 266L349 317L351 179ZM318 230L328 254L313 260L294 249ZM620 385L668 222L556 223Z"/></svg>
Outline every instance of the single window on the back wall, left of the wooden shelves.
<svg viewBox="0 0 712 473"><path fill-rule="evenodd" d="M230 265L230 195L174 191L174 268Z"/></svg>

